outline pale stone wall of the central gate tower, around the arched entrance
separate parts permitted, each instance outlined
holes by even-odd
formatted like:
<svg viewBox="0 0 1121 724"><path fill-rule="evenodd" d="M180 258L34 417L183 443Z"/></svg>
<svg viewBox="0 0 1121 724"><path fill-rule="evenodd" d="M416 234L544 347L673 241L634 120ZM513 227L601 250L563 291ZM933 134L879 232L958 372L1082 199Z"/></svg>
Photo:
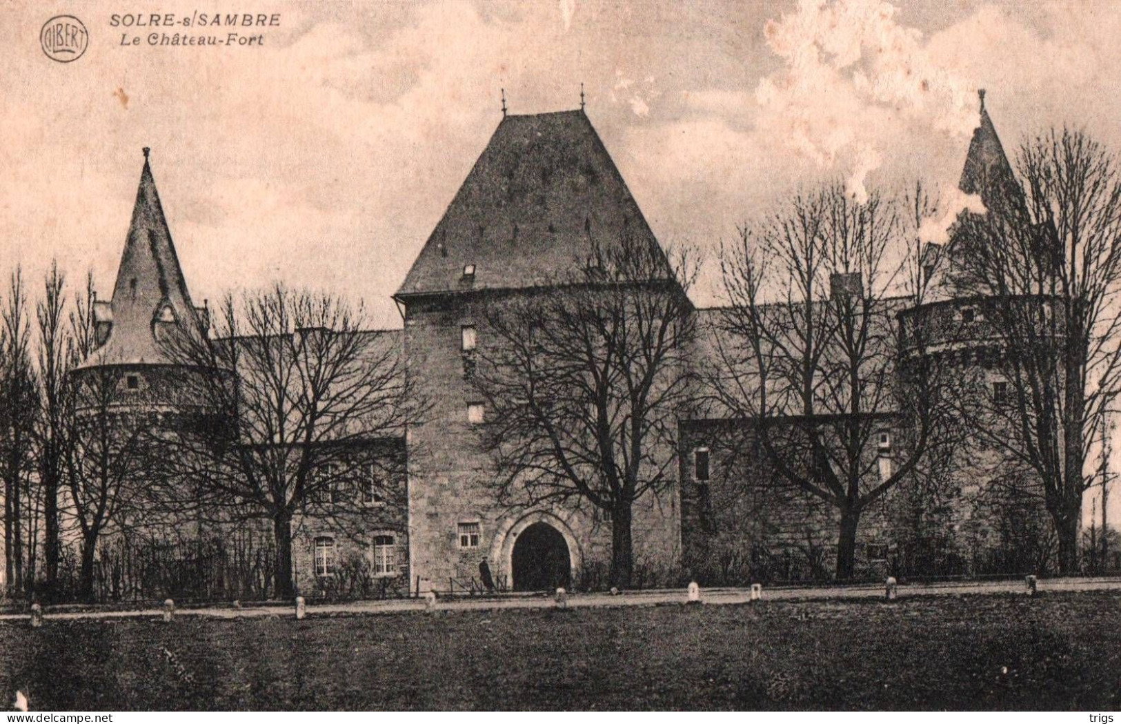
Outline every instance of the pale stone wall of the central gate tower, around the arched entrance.
<svg viewBox="0 0 1121 724"><path fill-rule="evenodd" d="M513 540L536 520L564 535L577 585L610 560L610 522L586 503L525 509L498 500L493 461L483 449L481 427L467 421L467 406L480 401L471 378L478 360L461 344L463 325L475 326L480 350L493 344L482 305L494 303L495 297L487 294L409 299L405 352L430 406L427 418L409 433L410 559L414 585L419 577L420 591L470 586L478 581L483 559L495 583L509 585ZM676 486L636 504L637 565L673 567L679 546L677 509ZM460 523L478 523L478 547L460 545Z"/></svg>

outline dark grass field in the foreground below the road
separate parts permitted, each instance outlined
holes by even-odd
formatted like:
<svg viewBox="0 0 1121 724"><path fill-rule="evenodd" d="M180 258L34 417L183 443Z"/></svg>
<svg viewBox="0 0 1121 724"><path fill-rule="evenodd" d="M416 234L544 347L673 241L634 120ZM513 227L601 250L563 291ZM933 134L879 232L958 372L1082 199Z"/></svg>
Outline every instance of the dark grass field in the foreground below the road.
<svg viewBox="0 0 1121 724"><path fill-rule="evenodd" d="M1121 594L0 622L36 709L1121 708Z"/></svg>

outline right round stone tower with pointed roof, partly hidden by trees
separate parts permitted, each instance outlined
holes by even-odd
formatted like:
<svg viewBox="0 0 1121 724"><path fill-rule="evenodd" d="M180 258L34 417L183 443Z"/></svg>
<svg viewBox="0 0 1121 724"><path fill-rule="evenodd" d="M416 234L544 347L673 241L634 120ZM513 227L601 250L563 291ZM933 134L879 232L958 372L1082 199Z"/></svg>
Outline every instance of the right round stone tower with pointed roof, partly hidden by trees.
<svg viewBox="0 0 1121 724"><path fill-rule="evenodd" d="M1012 166L980 95L980 119L970 142L958 188L980 197L985 210L1025 203ZM1008 206L1004 206L1006 208ZM970 281L969 259L978 244L991 240L971 233L973 212L963 211L949 230L945 244L927 244L923 252L926 286L923 304L900 317L900 353L916 352L920 329L925 353L941 358L958 374L958 400L979 409L997 409L1010 396L1004 377L1006 344L998 324L999 303ZM991 425L1008 425L993 418ZM948 519L949 539L963 570L1034 569L1027 549L1037 545L1047 529L1046 510L1036 498L1038 481L1001 457L1001 451L971 436L956 454L951 473L955 499Z"/></svg>

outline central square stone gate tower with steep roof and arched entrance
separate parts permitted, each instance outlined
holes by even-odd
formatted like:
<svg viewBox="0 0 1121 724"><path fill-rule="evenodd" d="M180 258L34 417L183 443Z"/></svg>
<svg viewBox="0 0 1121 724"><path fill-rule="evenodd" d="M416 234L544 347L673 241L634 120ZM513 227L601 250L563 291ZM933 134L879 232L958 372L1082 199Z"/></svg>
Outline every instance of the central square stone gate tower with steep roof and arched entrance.
<svg viewBox="0 0 1121 724"><path fill-rule="evenodd" d="M511 581L519 537L555 541L574 583L610 560L610 522L564 505L499 505L472 429L487 410L470 378L475 346L489 343L488 305L583 268L597 242L623 233L658 243L583 110L504 115L395 296L409 369L432 406L409 433L410 561L421 591L470 581L483 559L495 581ZM675 485L636 503L637 561L675 561L677 495Z"/></svg>

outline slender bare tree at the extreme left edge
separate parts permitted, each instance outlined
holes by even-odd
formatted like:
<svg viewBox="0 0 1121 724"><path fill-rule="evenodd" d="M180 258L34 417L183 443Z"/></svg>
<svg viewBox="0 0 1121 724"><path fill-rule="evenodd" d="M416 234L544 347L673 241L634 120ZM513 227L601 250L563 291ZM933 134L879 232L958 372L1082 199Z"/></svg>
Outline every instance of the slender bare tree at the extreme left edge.
<svg viewBox="0 0 1121 724"><path fill-rule="evenodd" d="M3 356L0 358L0 475L4 482L4 559L7 581L22 592L25 579L24 522L34 466L33 434L38 399L30 352L30 318L20 270L11 275L2 313Z"/></svg>

